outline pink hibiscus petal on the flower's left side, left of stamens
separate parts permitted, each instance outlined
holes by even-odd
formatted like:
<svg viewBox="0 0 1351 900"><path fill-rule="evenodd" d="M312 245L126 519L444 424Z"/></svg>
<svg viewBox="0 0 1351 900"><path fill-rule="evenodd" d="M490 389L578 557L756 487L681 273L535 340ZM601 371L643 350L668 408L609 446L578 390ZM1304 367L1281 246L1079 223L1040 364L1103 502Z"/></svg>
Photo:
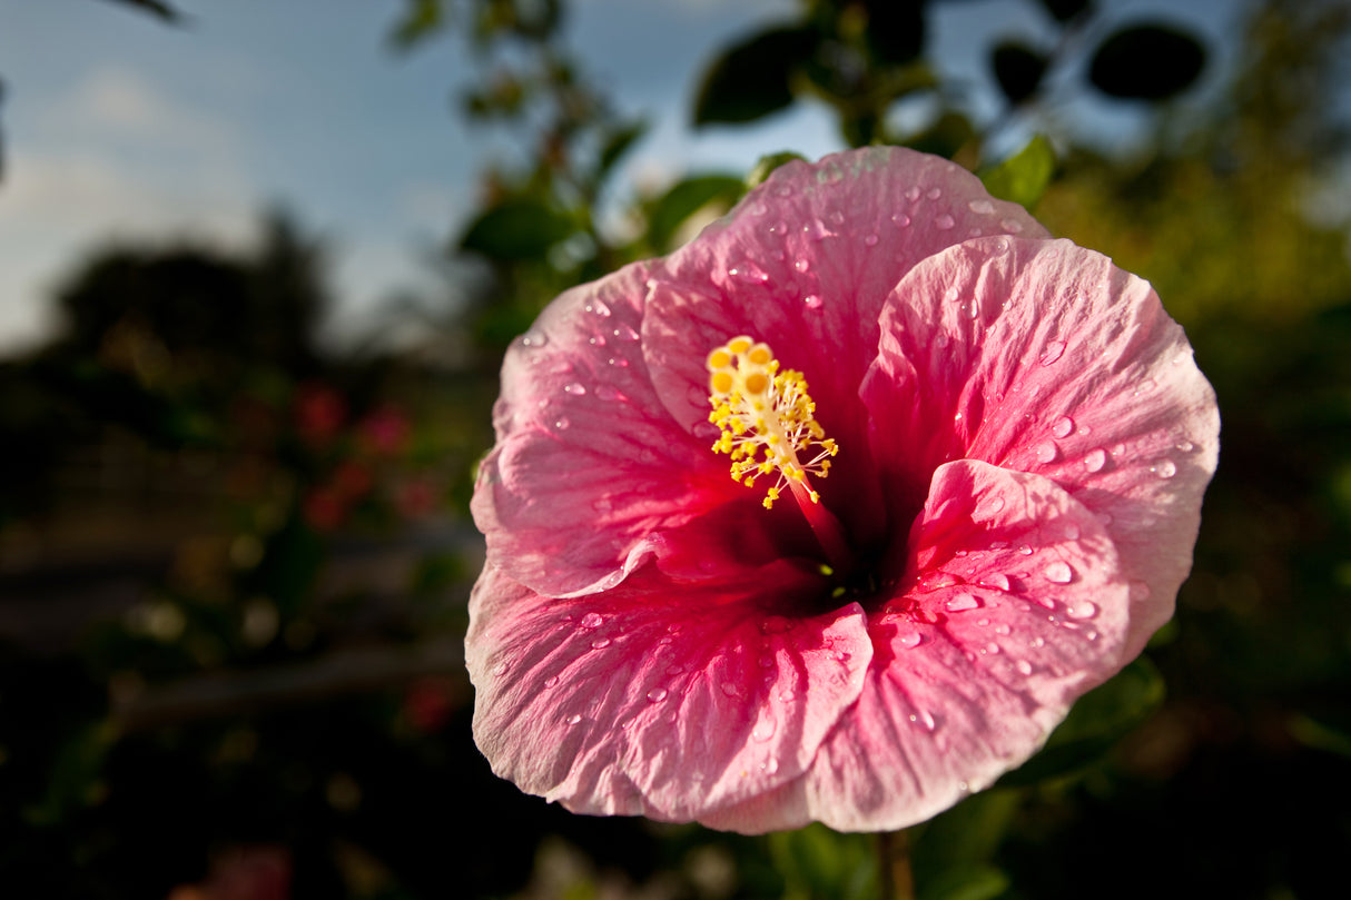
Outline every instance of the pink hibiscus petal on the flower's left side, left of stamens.
<svg viewBox="0 0 1351 900"><path fill-rule="evenodd" d="M657 400L639 347L644 278L630 266L565 293L503 365L474 522L494 564L542 593L603 591L653 555L680 555L671 531L746 499L708 449L716 428L694 436ZM681 546L701 543L711 562L728 547L712 536L696 528Z"/></svg>

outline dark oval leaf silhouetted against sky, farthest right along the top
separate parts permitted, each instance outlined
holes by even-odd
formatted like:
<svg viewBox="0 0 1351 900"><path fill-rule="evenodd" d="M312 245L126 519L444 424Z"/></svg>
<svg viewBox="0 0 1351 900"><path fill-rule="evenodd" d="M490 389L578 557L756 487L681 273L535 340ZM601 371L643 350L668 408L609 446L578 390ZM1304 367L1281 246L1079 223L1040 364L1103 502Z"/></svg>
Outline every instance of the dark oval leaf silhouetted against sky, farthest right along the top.
<svg viewBox="0 0 1351 900"><path fill-rule="evenodd" d="M1135 26L1102 42L1089 65L1089 81L1123 100L1166 100L1185 91L1205 68L1205 49L1165 24Z"/></svg>

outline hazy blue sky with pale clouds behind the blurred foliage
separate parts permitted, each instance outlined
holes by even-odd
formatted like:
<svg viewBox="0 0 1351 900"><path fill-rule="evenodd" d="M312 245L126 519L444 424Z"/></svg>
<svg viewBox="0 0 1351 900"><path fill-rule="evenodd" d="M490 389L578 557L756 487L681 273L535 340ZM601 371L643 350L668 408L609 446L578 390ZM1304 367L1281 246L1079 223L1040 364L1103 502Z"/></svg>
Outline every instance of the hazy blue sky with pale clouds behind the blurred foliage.
<svg viewBox="0 0 1351 900"><path fill-rule="evenodd" d="M474 176L509 135L471 131L454 92L470 77L454 35L399 55L401 0L177 0L186 27L99 0L0 0L0 353L50 328L46 297L109 241L193 236L246 247L259 211L293 209L332 241L334 334L359 332L397 289L435 291L424 258L473 208ZM1123 0L1112 20L1165 12L1228 35L1235 3ZM793 0L573 0L570 41L626 112L654 124L623 178L744 172L762 154L838 149L819 109L755 128L686 127L701 64L788 18ZM1047 34L1032 0L939 5L944 69L984 77L992 35ZM1210 73L1215 80L1217 74ZM981 99L988 84L974 84ZM1104 135L1133 119L1066 111Z"/></svg>

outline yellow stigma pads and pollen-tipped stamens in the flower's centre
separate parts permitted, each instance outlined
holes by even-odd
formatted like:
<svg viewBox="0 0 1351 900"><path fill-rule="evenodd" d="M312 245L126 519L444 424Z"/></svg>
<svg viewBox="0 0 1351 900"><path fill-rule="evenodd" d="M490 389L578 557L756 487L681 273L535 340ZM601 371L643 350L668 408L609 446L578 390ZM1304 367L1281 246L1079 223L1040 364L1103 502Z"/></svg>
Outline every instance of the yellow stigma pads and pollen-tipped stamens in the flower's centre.
<svg viewBox="0 0 1351 900"><path fill-rule="evenodd" d="M762 476L775 482L765 496L769 509L784 489L798 500L820 503L808 476L824 478L839 453L815 419L816 404L801 372L780 369L767 343L732 338L708 354L708 420L721 434L715 453L732 458L731 476L754 486Z"/></svg>

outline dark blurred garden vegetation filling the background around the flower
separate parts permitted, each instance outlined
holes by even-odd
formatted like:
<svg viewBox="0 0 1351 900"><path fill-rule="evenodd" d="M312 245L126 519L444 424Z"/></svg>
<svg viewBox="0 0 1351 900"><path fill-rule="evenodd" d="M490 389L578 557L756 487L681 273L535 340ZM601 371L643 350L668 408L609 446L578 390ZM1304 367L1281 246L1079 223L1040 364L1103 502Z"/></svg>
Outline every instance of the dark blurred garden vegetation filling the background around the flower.
<svg viewBox="0 0 1351 900"><path fill-rule="evenodd" d="M1042 757L912 831L919 896L1346 896L1351 211L1327 199L1347 196L1351 5L1252 0L1216 47L1159 20L1104 34L1105 3L1028 3L1061 39L988 47L1004 111L977 120L925 55L939 3L802 0L716 49L693 120L825 104L840 146L984 173L1155 284L1224 432L1175 622ZM484 173L447 247L474 300L431 311L422 346L320 346L330 250L273 211L251 255L73 261L59 334L0 362L0 895L875 892L870 838L570 816L494 780L469 736L466 504L501 353L559 291L670 250L750 174L639 195L623 236L600 228L643 123L570 55L566 12L392 7L404 51L477 47L463 115L530 143L528 165ZM1201 103L1221 50L1232 77ZM1085 143L1067 93L1147 107L1146 131Z"/></svg>

